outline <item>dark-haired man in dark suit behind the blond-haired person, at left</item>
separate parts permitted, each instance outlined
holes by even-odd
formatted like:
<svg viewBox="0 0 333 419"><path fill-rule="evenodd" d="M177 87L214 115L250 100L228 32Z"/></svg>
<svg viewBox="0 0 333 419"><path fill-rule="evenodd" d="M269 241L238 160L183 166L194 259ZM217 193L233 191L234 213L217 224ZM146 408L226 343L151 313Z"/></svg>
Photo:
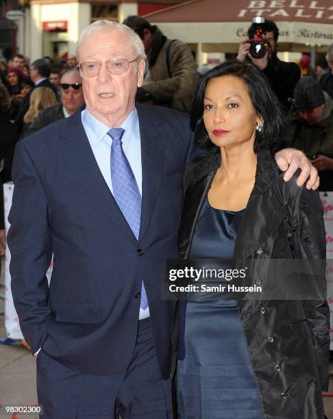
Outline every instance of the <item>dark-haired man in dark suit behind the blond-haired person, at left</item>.
<svg viewBox="0 0 333 419"><path fill-rule="evenodd" d="M40 58L39 60L35 60L31 64L30 78L34 82L34 88L32 88L32 90L26 94L26 96L23 98L21 102L20 110L18 112L18 116L16 117L16 123L19 127L22 127L23 125L23 118L27 113L27 110L29 109L30 95L36 88L51 88L51 90L53 90L53 92L56 94L56 97L58 98L56 88L49 81L50 73L51 68L49 64L42 58Z"/></svg>

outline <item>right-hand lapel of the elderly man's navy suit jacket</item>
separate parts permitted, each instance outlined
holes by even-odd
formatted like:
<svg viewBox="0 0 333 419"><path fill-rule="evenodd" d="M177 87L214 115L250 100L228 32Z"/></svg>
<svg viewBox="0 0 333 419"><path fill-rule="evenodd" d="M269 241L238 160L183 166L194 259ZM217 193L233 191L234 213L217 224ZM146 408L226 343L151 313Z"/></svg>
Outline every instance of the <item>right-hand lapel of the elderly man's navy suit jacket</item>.
<svg viewBox="0 0 333 419"><path fill-rule="evenodd" d="M154 115L149 107L136 105L140 126L141 162L143 170L143 201L139 242L143 239L162 180L164 153L167 141L167 126ZM162 134L162 131L163 134Z"/></svg>

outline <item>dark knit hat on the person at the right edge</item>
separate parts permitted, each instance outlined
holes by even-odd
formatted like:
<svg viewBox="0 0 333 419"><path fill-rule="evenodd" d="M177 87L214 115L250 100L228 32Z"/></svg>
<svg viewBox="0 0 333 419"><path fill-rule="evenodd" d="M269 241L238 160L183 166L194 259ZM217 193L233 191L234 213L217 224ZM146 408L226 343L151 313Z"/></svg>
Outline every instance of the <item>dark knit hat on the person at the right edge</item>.
<svg viewBox="0 0 333 419"><path fill-rule="evenodd" d="M323 89L313 77L301 77L294 90L295 107L300 110L312 110L325 103Z"/></svg>

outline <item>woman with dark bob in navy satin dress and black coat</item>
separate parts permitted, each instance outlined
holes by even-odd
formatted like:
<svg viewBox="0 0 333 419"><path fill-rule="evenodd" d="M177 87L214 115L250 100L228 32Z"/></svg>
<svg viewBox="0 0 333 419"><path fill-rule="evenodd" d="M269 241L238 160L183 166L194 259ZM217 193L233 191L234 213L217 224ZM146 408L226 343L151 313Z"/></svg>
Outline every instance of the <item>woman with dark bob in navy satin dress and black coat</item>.
<svg viewBox="0 0 333 419"><path fill-rule="evenodd" d="M210 151L186 169L181 257L234 257L256 273L245 285L268 280L263 259L325 259L318 193L295 176L284 182L271 157L284 119L256 66L226 62L204 75L191 127ZM329 316L324 299L179 301L180 418L323 419Z"/></svg>

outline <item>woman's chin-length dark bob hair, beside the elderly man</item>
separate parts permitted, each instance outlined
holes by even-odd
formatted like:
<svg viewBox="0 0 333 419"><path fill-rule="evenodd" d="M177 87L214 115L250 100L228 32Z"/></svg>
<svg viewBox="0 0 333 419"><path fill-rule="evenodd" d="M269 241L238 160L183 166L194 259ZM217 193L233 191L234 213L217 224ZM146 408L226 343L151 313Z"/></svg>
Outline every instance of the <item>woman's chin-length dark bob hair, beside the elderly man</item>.
<svg viewBox="0 0 333 419"><path fill-rule="evenodd" d="M216 147L210 141L204 125L204 97L208 82L216 77L226 75L238 77L245 82L253 107L256 113L262 116L264 126L262 131L256 131L254 151L258 152L259 149L276 151L279 149L286 125L280 102L277 101L271 86L259 68L254 64L239 61L223 62L223 64L212 68L199 80L190 112L190 127L195 132L195 142L203 149Z"/></svg>

